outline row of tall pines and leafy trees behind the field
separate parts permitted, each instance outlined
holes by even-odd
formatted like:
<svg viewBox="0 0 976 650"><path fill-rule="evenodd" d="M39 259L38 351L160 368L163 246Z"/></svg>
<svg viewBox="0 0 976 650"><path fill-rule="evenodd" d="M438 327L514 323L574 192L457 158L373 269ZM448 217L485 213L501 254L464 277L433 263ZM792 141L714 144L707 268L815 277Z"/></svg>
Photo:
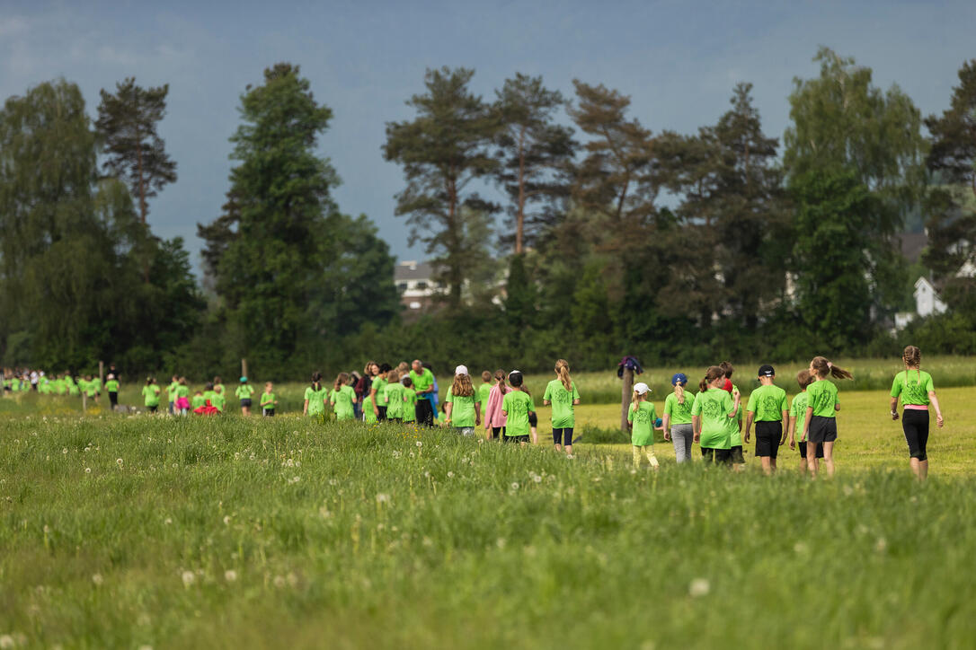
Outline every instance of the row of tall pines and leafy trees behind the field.
<svg viewBox="0 0 976 650"><path fill-rule="evenodd" d="M168 88L102 91L92 125L76 86L40 84L0 111L0 356L185 372L247 357L298 376L406 350L523 369L891 354L918 275L952 309L906 335L976 353L974 281L958 274L976 242L976 60L926 118L853 58L815 60L782 145L748 83L678 134L600 84L576 80L570 98L516 74L485 99L473 70L428 70L382 150L404 174L396 214L447 287L415 322L375 224L332 198L317 153L332 113L299 66L240 97L226 203L198 227L201 283L183 241L145 221L177 178L156 133ZM921 227L911 266L899 235Z"/></svg>

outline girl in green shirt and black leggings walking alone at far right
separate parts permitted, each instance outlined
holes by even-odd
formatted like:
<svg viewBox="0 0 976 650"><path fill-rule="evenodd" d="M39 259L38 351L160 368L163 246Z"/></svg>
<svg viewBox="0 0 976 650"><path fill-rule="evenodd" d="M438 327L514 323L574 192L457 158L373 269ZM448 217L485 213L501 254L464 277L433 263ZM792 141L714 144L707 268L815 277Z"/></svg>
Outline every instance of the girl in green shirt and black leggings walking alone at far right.
<svg viewBox="0 0 976 650"><path fill-rule="evenodd" d="M891 384L891 419L898 420L898 401L902 402L902 431L909 445L909 464L918 480L928 478L928 405L935 407L935 422L942 429L945 420L935 397L932 375L921 369L921 350L914 345L902 353L905 370Z"/></svg>

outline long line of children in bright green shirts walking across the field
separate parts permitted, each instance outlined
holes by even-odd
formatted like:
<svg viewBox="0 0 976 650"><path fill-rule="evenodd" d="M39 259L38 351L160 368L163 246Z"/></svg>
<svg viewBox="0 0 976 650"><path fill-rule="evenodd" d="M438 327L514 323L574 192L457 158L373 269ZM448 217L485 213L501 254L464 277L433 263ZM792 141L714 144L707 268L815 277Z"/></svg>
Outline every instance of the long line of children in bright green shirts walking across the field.
<svg viewBox="0 0 976 650"><path fill-rule="evenodd" d="M926 446L929 436L929 404L934 406L936 423L940 428L944 418L935 394L932 376L920 369L921 352L915 346L905 349L905 369L894 379L891 389L891 417L898 420L899 401L904 407L901 415L903 431L909 446L911 467L919 479L928 474ZM40 370L6 368L3 376L5 393L36 391L50 395L84 395L98 402L102 391L114 409L118 405L120 377L114 366L106 381L98 377L72 376L63 372L54 379ZM551 406L553 447L573 456L575 406L580 393L569 374L569 363L557 360L553 368L555 378L549 381L543 394L543 404ZM763 364L756 372L758 387L745 405L738 386L732 382L734 368L728 362L710 366L698 384L698 393L687 389L688 377L676 373L671 377L673 391L664 401L664 412L658 417L650 400L651 389L644 382L633 386L627 420L630 423L630 442L633 464L637 468L644 458L652 469L660 463L654 452L655 431L663 432L670 441L677 463L691 460L692 444L697 443L702 457L709 463L730 466L740 471L745 465L744 445L755 436L754 455L762 471L772 474L777 469L779 449L789 441L791 449L799 453L799 471L816 477L823 469L834 474L834 442L837 440L836 413L840 410L837 388L830 377L853 379L847 370L824 357L815 357L809 367L796 375L799 393L792 401L786 391L775 385L776 370ZM145 409L157 412L165 391L168 412L173 415L219 415L224 413L226 391L220 377L214 377L203 390L190 396L185 377L174 375L163 389L155 378L148 377L142 387ZM251 415L255 388L246 376L239 379L234 396L242 415ZM519 370L485 370L477 387L466 365L458 365L444 401L438 408L438 387L427 363L389 364L366 363L363 373L341 372L331 389L323 383L322 374L315 372L305 388L303 414L325 417L332 412L339 421L362 420L367 423L417 423L428 427L440 424L454 429L465 437L474 437L483 426L486 440L502 440L518 444L538 444L536 405L524 376ZM265 417L275 414L278 400L271 382L264 384L258 406ZM745 415L744 415L745 413Z"/></svg>

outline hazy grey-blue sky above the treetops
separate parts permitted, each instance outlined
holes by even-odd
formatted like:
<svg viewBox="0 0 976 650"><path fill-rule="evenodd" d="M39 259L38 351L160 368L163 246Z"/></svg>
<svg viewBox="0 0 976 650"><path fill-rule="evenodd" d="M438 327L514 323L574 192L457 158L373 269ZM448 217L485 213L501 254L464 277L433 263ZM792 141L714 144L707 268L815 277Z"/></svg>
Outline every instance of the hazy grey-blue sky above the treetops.
<svg viewBox="0 0 976 650"><path fill-rule="evenodd" d="M321 140L343 178L340 208L368 214L399 258L406 246L393 195L399 168L383 160L385 124L409 119L404 100L427 67L477 70L491 98L514 72L541 74L571 95L572 80L632 98L654 132L711 124L732 87L754 85L768 134L789 123L793 77L817 74L819 45L897 83L923 114L948 106L956 71L976 57L976 2L20 2L0 0L0 97L64 77L94 115L99 90L136 76L170 84L160 127L180 179L150 205L153 230L181 235L198 263L196 222L220 213L237 103L264 67L299 63L334 111ZM968 46L966 44L969 44Z"/></svg>

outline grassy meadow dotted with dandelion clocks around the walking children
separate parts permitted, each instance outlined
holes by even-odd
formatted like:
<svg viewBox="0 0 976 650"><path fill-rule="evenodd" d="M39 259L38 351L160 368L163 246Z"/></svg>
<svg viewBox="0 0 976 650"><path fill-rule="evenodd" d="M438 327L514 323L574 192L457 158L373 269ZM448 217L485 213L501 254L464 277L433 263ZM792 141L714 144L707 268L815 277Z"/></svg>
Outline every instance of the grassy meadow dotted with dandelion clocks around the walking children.
<svg viewBox="0 0 976 650"><path fill-rule="evenodd" d="M940 395L923 485L883 393L841 395L819 481L678 467L664 444L654 474L626 445L9 414L0 645L971 647L974 391Z"/></svg>

